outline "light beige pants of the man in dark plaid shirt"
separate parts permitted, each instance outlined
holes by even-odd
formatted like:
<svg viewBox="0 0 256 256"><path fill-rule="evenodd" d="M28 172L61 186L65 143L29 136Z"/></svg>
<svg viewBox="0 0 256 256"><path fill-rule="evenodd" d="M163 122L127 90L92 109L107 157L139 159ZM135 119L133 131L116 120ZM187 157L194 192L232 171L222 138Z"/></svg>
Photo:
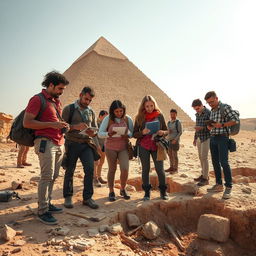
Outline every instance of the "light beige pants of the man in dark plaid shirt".
<svg viewBox="0 0 256 256"><path fill-rule="evenodd" d="M198 150L198 156L201 163L202 175L204 179L208 179L209 175L209 163L208 163L208 152L210 148L210 138L201 142L198 138L196 140L196 146Z"/></svg>

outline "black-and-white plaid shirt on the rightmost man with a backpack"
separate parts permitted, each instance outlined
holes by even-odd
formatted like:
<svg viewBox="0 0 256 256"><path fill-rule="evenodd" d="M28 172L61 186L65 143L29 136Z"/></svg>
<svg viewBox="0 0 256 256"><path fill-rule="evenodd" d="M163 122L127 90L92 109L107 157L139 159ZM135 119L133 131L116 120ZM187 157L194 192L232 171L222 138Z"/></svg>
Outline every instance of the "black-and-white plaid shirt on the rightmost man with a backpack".
<svg viewBox="0 0 256 256"><path fill-rule="evenodd" d="M219 101L219 105L217 109L212 109L210 114L210 120L213 120L217 123L225 123L229 121L239 121L239 116L236 114L236 112L231 108L231 106L227 104L224 105L224 115L221 115L220 105L222 103ZM230 130L229 127L221 127L221 128L212 128L210 131L211 135L219 135L219 134L229 134Z"/></svg>

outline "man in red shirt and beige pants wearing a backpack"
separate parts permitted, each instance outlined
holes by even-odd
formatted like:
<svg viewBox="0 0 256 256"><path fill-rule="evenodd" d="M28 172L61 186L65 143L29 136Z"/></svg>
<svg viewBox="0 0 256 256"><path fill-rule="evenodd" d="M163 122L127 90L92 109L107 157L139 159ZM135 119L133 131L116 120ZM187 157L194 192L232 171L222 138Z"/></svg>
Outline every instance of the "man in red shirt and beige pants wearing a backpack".
<svg viewBox="0 0 256 256"><path fill-rule="evenodd" d="M61 119L62 108L59 100L59 96L68 84L68 80L62 74L55 71L47 73L42 82L45 89L41 92L46 107L40 119L37 119L37 115L42 102L40 97L35 95L28 103L23 120L24 127L35 130L35 152L41 168L38 184L38 218L49 225L57 224L52 213L62 212L61 208L51 204L51 195L64 153L63 133L69 129L69 125Z"/></svg>

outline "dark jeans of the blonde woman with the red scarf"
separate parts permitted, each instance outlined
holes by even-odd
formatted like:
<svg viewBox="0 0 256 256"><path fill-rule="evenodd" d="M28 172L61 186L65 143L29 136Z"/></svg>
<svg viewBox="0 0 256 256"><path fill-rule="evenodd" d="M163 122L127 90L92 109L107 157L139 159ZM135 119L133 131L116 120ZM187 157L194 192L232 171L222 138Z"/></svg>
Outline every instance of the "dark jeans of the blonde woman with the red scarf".
<svg viewBox="0 0 256 256"><path fill-rule="evenodd" d="M139 146L139 157L142 165L142 182L144 186L148 186L150 184L149 180L149 171L150 171L150 155L153 158L156 173L158 176L159 186L165 186L165 172L164 172L164 162L157 161L157 151L149 151L145 148Z"/></svg>

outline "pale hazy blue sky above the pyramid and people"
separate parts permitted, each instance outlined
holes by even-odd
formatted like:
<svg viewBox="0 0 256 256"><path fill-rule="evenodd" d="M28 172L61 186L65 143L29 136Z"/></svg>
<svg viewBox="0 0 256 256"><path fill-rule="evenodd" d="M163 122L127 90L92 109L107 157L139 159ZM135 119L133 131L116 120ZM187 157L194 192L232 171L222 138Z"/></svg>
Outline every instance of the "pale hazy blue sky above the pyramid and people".
<svg viewBox="0 0 256 256"><path fill-rule="evenodd" d="M209 90L255 118L255 13L254 0L0 0L0 112L104 36L192 118Z"/></svg>

